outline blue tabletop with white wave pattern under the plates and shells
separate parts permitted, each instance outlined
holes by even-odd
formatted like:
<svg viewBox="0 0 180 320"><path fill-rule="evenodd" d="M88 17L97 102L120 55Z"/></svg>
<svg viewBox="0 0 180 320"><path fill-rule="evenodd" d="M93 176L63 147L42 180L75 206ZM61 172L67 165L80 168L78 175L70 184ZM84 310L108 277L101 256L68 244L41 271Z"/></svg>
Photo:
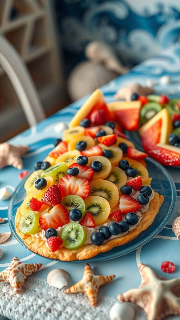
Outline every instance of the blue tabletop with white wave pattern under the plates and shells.
<svg viewBox="0 0 180 320"><path fill-rule="evenodd" d="M172 50L163 52L161 55L156 56L151 60L147 60L143 64L133 68L127 75L120 76L104 85L102 87L102 92L106 102L113 101L113 95L120 87L131 82L138 82L145 85L146 79L151 79L156 83L154 88L157 94L168 94L170 98L180 98L179 56L180 46L176 46ZM164 75L170 77L170 84L162 86L159 80L160 77ZM37 126L30 128L10 140L14 145L28 144L30 146L29 153L23 157L23 170L33 170L34 163L37 160L43 160L45 158L47 153L53 148L53 140L61 137L61 134L54 130L55 126L61 121L68 124L72 116L74 116L85 100L86 98L83 98L71 104L37 124ZM137 268L137 263L140 261L148 264L161 276L164 276L160 270L161 262L164 260L173 261L176 265L176 272L173 275L167 274L166 276L167 278L180 277L178 254L180 242L176 240L176 237L171 230L172 222L175 217L178 216L177 210L180 207L180 172L175 168L168 168L168 172L175 181L177 203L168 225L161 231L160 235L143 245L142 248L125 256L115 260L91 264L96 274L116 274L116 279L113 282L100 288L100 292L104 295L115 297L120 292L137 287L140 284L141 279ZM20 182L18 178L19 173L20 172L17 169L12 167L6 167L0 170L0 188L8 185L12 186L13 189L16 188ZM10 230L7 220L8 204L8 200L0 201L0 216L6 219L6 222L0 225L0 232ZM45 278L51 269L62 268L70 273L71 285L80 280L83 274L84 263L58 262L39 257L25 249L13 236L11 236L4 244L1 244L0 247L4 251L4 255L0 260L0 271L6 268L12 257L16 255L22 261L29 263L41 262L43 268L37 273L38 277Z"/></svg>

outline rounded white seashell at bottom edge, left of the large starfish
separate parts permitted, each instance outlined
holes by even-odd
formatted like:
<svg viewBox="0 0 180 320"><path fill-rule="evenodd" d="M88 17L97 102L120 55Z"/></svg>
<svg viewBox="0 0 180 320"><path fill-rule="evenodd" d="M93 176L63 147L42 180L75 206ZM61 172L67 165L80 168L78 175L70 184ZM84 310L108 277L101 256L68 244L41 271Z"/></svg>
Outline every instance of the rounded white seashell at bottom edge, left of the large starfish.
<svg viewBox="0 0 180 320"><path fill-rule="evenodd" d="M116 302L110 309L110 320L132 320L134 308L127 302Z"/></svg>

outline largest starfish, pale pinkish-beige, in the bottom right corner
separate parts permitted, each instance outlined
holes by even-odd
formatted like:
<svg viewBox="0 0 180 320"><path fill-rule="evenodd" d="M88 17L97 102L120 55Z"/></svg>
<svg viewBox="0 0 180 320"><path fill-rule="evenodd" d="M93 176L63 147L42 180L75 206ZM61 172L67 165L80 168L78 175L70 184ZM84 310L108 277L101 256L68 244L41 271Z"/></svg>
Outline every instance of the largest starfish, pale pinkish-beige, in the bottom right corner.
<svg viewBox="0 0 180 320"><path fill-rule="evenodd" d="M180 315L180 278L162 278L143 263L138 268L142 278L139 288L120 294L118 300L132 302L143 308L148 320Z"/></svg>

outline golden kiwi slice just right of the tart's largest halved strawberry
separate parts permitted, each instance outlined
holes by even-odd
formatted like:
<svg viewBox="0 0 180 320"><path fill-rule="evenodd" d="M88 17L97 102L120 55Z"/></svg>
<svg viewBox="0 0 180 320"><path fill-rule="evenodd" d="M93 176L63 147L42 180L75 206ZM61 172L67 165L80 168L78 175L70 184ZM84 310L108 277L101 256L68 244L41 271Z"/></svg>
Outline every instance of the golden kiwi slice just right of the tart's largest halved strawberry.
<svg viewBox="0 0 180 320"><path fill-rule="evenodd" d="M111 209L114 208L119 201L119 191L114 183L108 180L97 179L90 182L91 196L100 196L106 199Z"/></svg>

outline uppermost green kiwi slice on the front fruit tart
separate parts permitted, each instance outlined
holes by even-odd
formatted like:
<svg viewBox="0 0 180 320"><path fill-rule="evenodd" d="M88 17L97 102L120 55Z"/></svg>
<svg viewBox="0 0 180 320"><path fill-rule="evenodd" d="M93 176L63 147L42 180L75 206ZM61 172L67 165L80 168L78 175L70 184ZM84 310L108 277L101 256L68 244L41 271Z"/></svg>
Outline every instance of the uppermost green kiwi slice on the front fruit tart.
<svg viewBox="0 0 180 320"><path fill-rule="evenodd" d="M45 177L51 176L55 184L58 184L59 180L66 175L67 169L68 167L65 162L61 162L59 164L54 164L53 166L46 169L44 175Z"/></svg>

